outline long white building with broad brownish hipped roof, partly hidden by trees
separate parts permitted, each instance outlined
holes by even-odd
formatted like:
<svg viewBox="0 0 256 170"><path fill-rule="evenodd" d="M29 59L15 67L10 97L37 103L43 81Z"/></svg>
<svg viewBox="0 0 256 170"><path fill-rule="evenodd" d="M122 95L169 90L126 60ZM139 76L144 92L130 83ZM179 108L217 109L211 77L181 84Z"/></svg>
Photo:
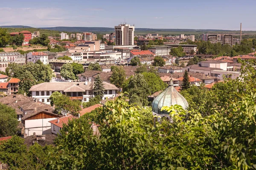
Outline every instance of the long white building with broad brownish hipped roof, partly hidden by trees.
<svg viewBox="0 0 256 170"><path fill-rule="evenodd" d="M70 99L80 100L81 102L88 102L94 95L90 94L90 88L93 82L44 82L38 85L33 85L29 91L32 93L33 99L39 99L39 101L46 104L50 104L49 97L55 91L67 95ZM115 85L107 82L103 82L105 93L102 99L113 98L116 96Z"/></svg>

